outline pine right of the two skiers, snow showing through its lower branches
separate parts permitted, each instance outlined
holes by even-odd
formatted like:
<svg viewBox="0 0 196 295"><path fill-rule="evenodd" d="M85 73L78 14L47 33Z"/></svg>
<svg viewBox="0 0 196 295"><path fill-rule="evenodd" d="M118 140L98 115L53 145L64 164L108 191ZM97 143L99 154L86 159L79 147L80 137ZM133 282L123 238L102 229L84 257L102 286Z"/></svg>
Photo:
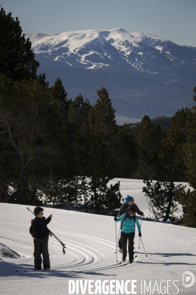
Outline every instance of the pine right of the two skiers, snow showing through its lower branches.
<svg viewBox="0 0 196 295"><path fill-rule="evenodd" d="M182 109L173 116L170 128L166 130L166 138L162 140L159 152L151 162L156 181L144 181L146 187L143 191L155 219L178 222L174 215L178 210L176 192L182 187L181 184L175 184L175 181L186 179L183 145L186 143L185 126L188 113L188 109Z"/></svg>

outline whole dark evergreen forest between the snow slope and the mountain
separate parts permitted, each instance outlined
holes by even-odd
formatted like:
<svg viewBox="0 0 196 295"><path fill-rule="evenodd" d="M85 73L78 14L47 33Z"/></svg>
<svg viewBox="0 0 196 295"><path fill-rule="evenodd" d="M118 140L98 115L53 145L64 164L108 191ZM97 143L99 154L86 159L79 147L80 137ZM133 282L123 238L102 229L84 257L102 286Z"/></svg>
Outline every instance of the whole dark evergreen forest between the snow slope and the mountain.
<svg viewBox="0 0 196 295"><path fill-rule="evenodd" d="M0 28L0 202L115 215L120 183L108 182L144 179L153 219L196 228L196 106L167 126L147 115L119 126L107 89L95 105L69 99L59 78L36 74L31 42L3 8Z"/></svg>

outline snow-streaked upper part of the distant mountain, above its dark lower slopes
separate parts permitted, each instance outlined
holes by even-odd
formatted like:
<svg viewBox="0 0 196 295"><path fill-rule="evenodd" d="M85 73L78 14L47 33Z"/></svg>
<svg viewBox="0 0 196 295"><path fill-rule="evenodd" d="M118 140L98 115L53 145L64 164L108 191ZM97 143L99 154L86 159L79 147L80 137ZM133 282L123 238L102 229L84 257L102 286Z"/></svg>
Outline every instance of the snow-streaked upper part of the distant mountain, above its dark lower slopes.
<svg viewBox="0 0 196 295"><path fill-rule="evenodd" d="M172 41L124 29L78 30L48 36L26 34L42 65L158 73L169 66L196 64L196 53Z"/></svg>

